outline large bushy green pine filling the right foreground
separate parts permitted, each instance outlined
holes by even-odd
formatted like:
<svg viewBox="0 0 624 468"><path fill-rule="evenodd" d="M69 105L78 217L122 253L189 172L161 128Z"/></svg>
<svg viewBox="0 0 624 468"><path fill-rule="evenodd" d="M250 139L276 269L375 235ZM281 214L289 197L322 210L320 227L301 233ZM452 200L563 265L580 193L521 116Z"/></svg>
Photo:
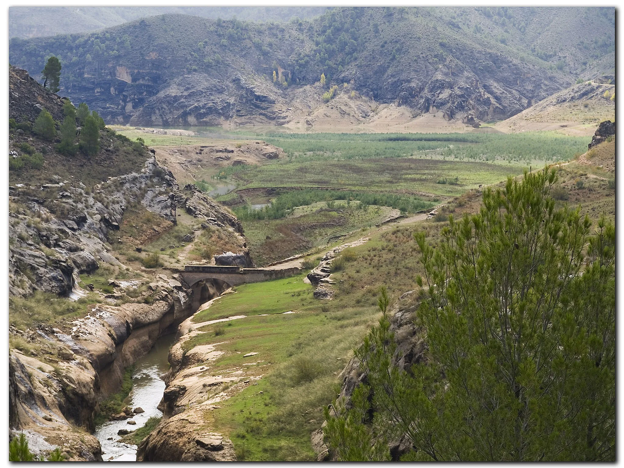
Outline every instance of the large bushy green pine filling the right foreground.
<svg viewBox="0 0 624 468"><path fill-rule="evenodd" d="M388 457L402 438L407 461L615 460L615 228L602 219L590 235L580 208L556 210L556 180L486 190L435 249L415 236L427 362L392 364L381 308L356 352L368 384L326 411L339 457Z"/></svg>

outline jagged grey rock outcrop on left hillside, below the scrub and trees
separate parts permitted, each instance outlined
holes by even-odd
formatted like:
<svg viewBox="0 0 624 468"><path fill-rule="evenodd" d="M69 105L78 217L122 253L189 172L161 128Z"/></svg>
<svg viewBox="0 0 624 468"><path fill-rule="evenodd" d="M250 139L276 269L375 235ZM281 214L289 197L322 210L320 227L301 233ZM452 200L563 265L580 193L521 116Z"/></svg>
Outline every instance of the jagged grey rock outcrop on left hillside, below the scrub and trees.
<svg viewBox="0 0 624 468"><path fill-rule="evenodd" d="M110 178L88 193L82 182L56 176L42 185L12 185L9 202L17 208L9 213L9 293L70 295L79 273L96 270L98 261L119 263L107 242L127 203L140 202L175 223L176 192L172 173L154 157L142 172Z"/></svg>

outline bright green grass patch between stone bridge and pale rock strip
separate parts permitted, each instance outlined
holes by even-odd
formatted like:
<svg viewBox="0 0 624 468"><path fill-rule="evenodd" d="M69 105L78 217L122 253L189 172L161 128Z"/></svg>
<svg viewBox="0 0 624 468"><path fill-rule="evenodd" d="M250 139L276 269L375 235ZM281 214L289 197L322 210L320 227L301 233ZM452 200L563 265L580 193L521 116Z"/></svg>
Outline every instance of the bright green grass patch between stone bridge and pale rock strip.
<svg viewBox="0 0 624 468"><path fill-rule="evenodd" d="M287 311L309 310L316 305L314 288L303 283L304 275L282 280L265 281L235 286L235 294L219 298L210 308L193 317L199 323L234 315L276 314Z"/></svg>

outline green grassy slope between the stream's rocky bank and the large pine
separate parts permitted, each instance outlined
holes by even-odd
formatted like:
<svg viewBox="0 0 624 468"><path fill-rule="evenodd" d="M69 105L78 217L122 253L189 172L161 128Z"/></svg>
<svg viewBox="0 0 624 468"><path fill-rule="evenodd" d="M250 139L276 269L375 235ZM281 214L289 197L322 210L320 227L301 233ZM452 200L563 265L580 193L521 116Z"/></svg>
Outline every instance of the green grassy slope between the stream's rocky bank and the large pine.
<svg viewBox="0 0 624 468"><path fill-rule="evenodd" d="M443 223L427 222L434 237ZM210 363L219 375L241 367L248 375L263 375L257 385L223 401L207 413L216 430L227 434L240 461L313 461L310 434L323 422L323 408L340 384L339 372L378 318L379 286L389 287L392 300L414 288L421 273L412 240L413 227L378 232L368 243L349 248L343 269L334 273L333 301L305 299L311 287L303 275L285 280L241 285L236 293L215 301L194 321L246 315L227 323L204 326L210 333L185 343L216 344L224 354ZM342 280L342 281L341 281ZM303 291L302 291L303 290ZM301 291L301 296L293 293ZM296 308L304 298L303 306ZM308 305L309 304L309 305ZM295 314L281 314L297 310ZM260 315L268 313L270 315ZM217 326L223 334L212 333ZM243 358L246 353L258 353ZM257 363L243 366L246 363ZM260 393L260 391L262 393Z"/></svg>

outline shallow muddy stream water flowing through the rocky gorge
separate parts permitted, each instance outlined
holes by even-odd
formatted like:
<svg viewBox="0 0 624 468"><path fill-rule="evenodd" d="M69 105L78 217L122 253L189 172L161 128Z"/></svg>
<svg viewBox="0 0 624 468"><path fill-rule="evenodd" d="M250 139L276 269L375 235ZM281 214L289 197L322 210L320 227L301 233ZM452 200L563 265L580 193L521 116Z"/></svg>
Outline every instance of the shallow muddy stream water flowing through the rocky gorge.
<svg viewBox="0 0 624 468"><path fill-rule="evenodd" d="M122 436L117 436L117 431L139 429L150 417L162 416L162 412L156 407L165 390L163 377L169 369L167 355L174 343L175 334L159 338L154 348L135 363L132 391L124 402L133 409L140 406L145 412L135 414L126 421L105 422L95 429L95 437L102 445L102 452L104 452L102 459L105 461L136 461L137 446L119 442ZM127 421L135 421L137 424L132 426ZM112 440L109 441L110 437Z"/></svg>

